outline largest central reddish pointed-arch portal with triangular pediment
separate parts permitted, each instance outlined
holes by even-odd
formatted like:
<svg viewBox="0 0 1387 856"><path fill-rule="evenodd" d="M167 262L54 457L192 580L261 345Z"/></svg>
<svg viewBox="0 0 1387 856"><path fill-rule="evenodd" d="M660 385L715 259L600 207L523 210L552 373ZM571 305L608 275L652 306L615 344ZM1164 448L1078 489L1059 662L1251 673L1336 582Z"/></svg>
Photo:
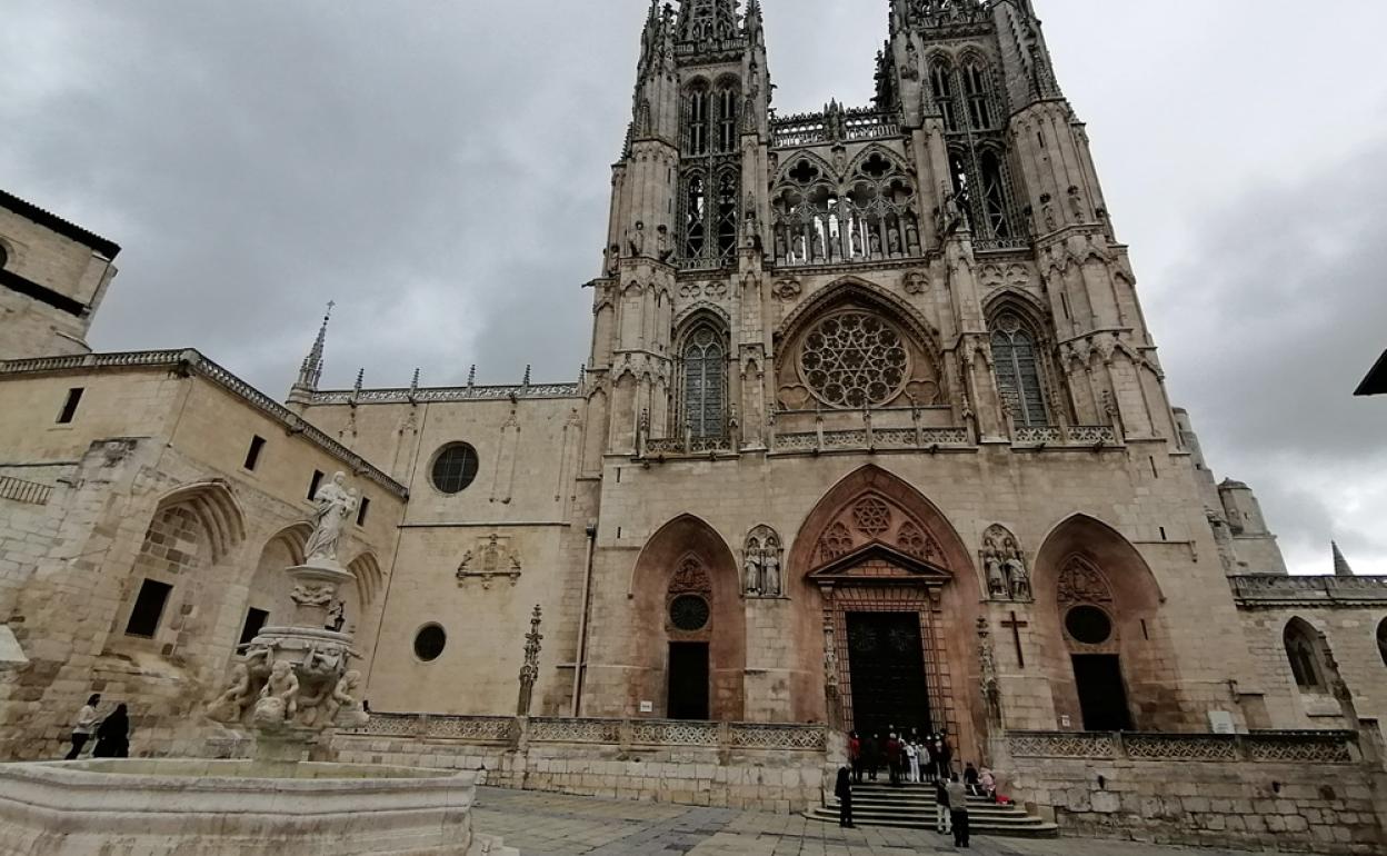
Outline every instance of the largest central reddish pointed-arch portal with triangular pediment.
<svg viewBox="0 0 1387 856"><path fill-rule="evenodd" d="M892 726L945 731L978 757L981 590L943 515L904 480L863 468L806 519L789 567L799 620L818 628L809 651L822 658L828 721L882 737Z"/></svg>

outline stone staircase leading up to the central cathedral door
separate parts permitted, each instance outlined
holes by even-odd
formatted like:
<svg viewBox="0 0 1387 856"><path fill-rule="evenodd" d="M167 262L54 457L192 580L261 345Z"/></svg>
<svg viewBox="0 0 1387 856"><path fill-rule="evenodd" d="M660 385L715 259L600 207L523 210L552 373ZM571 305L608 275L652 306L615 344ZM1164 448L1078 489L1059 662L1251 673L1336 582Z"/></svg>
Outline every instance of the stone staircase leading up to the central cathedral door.
<svg viewBox="0 0 1387 856"><path fill-rule="evenodd" d="M853 823L860 827L897 827L933 830L936 827L933 785L890 787L886 782L853 785ZM810 820L838 823L838 799L804 812ZM999 806L981 798L968 798L968 817L974 835L1000 838L1058 838L1060 827L1021 806Z"/></svg>

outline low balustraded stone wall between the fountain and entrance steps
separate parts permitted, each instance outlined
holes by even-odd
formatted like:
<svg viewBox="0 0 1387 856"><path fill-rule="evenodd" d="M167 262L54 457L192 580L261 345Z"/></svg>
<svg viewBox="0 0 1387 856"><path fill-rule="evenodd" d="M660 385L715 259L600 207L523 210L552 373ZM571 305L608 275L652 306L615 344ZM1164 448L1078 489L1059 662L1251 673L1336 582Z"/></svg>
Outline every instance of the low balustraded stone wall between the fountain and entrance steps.
<svg viewBox="0 0 1387 856"><path fill-rule="evenodd" d="M791 813L821 805L829 739L817 726L372 714L333 749L502 788Z"/></svg>

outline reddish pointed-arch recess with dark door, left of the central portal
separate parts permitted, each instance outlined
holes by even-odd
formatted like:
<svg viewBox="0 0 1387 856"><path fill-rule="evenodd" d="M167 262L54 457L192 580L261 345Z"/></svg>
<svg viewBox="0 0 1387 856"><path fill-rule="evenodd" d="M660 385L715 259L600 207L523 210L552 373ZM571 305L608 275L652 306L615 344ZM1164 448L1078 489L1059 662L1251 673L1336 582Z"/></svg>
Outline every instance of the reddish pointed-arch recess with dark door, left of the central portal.
<svg viewBox="0 0 1387 856"><path fill-rule="evenodd" d="M705 658L706 719L745 716L746 622L736 558L717 531L692 515L670 520L641 551L631 577L627 706L652 702L657 716L699 719L698 658ZM702 599L706 620L694 620ZM673 706L680 708L671 710ZM694 710L691 713L691 710Z"/></svg>

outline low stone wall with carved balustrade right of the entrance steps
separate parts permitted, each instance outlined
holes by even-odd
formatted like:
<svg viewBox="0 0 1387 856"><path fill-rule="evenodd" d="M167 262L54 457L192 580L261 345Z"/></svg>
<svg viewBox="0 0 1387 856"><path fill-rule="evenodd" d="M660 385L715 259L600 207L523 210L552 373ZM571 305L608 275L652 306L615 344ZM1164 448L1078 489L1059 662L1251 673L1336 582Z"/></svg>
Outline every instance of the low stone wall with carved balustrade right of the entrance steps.
<svg viewBox="0 0 1387 856"><path fill-rule="evenodd" d="M1383 853L1381 771L1351 731L1008 734L1010 795L1069 835Z"/></svg>

